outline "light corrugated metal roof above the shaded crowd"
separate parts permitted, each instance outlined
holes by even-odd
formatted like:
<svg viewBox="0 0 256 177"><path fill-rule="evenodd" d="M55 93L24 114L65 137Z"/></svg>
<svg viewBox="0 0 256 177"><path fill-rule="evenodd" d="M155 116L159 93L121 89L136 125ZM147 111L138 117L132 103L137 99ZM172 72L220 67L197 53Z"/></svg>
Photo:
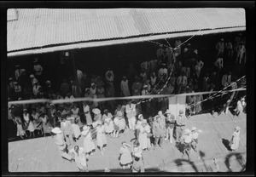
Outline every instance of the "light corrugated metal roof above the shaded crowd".
<svg viewBox="0 0 256 177"><path fill-rule="evenodd" d="M244 9L17 9L8 52L49 45L246 26Z"/></svg>

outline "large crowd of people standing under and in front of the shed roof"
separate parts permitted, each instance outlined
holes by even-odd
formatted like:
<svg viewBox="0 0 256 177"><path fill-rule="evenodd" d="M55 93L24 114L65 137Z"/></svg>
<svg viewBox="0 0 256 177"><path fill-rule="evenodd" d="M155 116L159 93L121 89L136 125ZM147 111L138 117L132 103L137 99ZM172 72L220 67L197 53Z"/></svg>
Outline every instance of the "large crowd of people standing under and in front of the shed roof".
<svg viewBox="0 0 256 177"><path fill-rule="evenodd" d="M136 134L132 147L126 142L122 143L120 164L124 168L132 168L133 172L143 172L143 151L148 151L151 146L160 146L164 140L170 143L175 141L183 146L183 153L189 157L189 143L196 151L198 131L196 128L186 129L183 132L186 116L198 114L202 111L201 101L206 95L197 94L187 96L186 103L191 106L186 112L179 111L172 115L168 110L168 98L124 101L83 101L73 102L74 98L105 98L116 95L147 95L147 94L183 94L201 91L213 91L223 88L241 88L246 85L246 77L236 82L238 76L233 77L225 68L225 60L234 60L241 64L246 62L245 39L239 34L234 42L224 43L221 38L216 44L216 60L205 74L201 74L206 67L201 60L200 49L194 49L190 43L181 45L180 39L175 42L175 49L159 46L154 60L141 63L139 74L129 66L120 81L121 93L116 93L114 88L114 71L108 68L105 76L92 75L88 77L83 71L77 70L77 78L63 79L60 89L52 88L51 81L44 79L43 67L34 60L33 73L28 77L26 70L16 66L15 77L9 78L9 101L11 100L70 100L67 103L49 104L31 103L9 105L9 120L17 126L17 136L35 137L37 134L55 134L55 142L61 151L61 156L78 164L81 171L86 171L87 164L84 159L94 151L96 145L104 156L107 146L106 135L119 138L119 134L129 128ZM209 70L208 70L209 69ZM14 79L15 78L15 79ZM135 80L134 83L129 83ZM224 101L238 98L236 114L245 111L244 93L233 92L226 94ZM207 96L211 96L208 94ZM214 100L214 98L213 98ZM209 104L209 102L207 102ZM212 110L216 102L212 101ZM229 102L230 104L230 102ZM225 105L227 109L230 105ZM214 110L213 110L214 111ZM29 134L27 134L27 132ZM191 135L192 134L192 135ZM75 140L84 138L84 147L74 146L67 152L67 146L73 145ZM191 138L192 137L192 138ZM192 141L193 140L193 141ZM132 153L129 148L132 149ZM71 156L74 155L74 158ZM85 163L84 163L85 162Z"/></svg>

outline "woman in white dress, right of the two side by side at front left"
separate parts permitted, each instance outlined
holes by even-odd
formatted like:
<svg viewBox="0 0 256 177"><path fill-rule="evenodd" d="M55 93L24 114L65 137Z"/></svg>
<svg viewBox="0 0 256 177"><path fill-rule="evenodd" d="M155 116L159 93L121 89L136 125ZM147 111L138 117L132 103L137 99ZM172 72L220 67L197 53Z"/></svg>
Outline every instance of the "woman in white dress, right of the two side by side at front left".
<svg viewBox="0 0 256 177"><path fill-rule="evenodd" d="M102 126L102 122L98 122L98 125L96 126L96 141L97 141L97 146L99 147L102 156L104 156L105 151L105 146L107 146L107 139L105 135L105 128Z"/></svg>

